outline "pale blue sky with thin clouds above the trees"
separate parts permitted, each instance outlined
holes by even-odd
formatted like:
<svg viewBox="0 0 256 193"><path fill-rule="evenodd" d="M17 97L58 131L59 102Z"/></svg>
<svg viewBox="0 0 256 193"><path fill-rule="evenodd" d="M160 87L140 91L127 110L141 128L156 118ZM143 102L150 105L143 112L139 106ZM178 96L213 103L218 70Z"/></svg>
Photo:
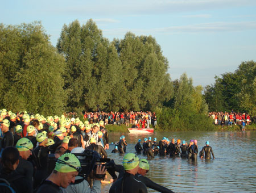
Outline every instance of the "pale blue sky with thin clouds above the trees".
<svg viewBox="0 0 256 193"><path fill-rule="evenodd" d="M81 25L93 19L110 41L129 31L151 35L168 59L171 79L187 73L194 86L256 61L256 0L0 2L0 23L41 21L54 46L63 25L75 19Z"/></svg>

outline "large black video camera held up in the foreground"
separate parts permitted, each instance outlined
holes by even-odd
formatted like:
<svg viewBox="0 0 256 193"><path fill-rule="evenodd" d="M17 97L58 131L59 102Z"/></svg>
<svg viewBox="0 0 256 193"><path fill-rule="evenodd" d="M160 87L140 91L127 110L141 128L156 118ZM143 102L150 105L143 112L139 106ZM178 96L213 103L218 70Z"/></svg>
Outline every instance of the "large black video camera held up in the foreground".
<svg viewBox="0 0 256 193"><path fill-rule="evenodd" d="M82 170L79 173L80 177L87 178L91 171L96 173L97 165L105 166L105 169L112 175L113 178L116 178L114 173L115 163L114 160L110 160L109 158L101 158L98 152L86 149L83 153L73 153L80 161ZM48 156L48 173L51 174L53 169L55 168L55 163L57 159L54 154L49 154ZM104 163L104 164L102 164Z"/></svg>

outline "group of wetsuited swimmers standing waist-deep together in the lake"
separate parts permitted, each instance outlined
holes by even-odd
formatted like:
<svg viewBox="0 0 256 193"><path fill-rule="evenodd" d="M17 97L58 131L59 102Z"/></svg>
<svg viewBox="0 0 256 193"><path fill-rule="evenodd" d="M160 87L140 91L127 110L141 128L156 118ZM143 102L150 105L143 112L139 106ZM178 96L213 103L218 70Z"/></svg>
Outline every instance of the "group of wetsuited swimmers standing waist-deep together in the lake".
<svg viewBox="0 0 256 193"><path fill-rule="evenodd" d="M144 142L141 144L142 140L139 139L137 144L134 146L134 149L137 154L143 154L147 156L148 159L154 158L156 155L159 156L170 156L170 157L181 157L188 158L192 160L197 160L198 154L200 158L211 159L211 154L214 157L212 147L209 146L209 141L205 142L205 146L199 152L197 146L197 140L190 140L189 144L186 141L178 139L177 142L175 139L171 141L163 137L162 140L157 142L157 139L152 140L151 137L144 138ZM112 153L126 153L127 142L125 136L121 136L119 142L115 143L115 148L112 150Z"/></svg>

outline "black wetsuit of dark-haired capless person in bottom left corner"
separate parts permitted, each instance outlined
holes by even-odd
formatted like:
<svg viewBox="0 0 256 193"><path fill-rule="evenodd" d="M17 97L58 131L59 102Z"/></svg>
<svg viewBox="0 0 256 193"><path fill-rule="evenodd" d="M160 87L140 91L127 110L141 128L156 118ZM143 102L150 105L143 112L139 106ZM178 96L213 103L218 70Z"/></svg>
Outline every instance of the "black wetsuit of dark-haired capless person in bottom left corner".
<svg viewBox="0 0 256 193"><path fill-rule="evenodd" d="M2 169L0 173L0 178L6 179L16 192L31 193L33 191L28 180L16 171L7 173L5 169ZM2 191L0 190L0 192Z"/></svg>

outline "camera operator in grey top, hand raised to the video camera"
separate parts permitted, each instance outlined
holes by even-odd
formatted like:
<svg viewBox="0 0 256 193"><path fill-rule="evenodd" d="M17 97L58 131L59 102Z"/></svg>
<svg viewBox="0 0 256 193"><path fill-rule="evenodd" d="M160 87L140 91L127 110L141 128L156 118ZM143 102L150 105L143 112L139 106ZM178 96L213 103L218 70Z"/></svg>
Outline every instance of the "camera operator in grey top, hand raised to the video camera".
<svg viewBox="0 0 256 193"><path fill-rule="evenodd" d="M83 148L75 148L71 151L71 153L83 153ZM85 157L78 156L79 160L83 160ZM106 170L105 166L97 166L96 169L96 177L94 178L93 186L90 188L89 183L81 177L77 175L75 178L75 182L71 183L67 188L61 188L63 193L77 192L77 193L100 193L101 192L101 179L105 177Z"/></svg>

